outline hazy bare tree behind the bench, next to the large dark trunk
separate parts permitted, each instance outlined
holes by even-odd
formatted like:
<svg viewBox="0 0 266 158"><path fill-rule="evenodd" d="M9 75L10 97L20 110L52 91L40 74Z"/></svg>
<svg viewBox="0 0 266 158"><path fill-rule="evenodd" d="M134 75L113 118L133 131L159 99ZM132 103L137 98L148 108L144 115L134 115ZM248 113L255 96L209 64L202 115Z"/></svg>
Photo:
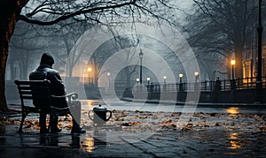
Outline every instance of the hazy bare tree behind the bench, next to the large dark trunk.
<svg viewBox="0 0 266 158"><path fill-rule="evenodd" d="M15 79L15 76L17 79L27 79L30 64L33 63L34 59L34 57L29 56L38 54L40 50L47 49L47 46L47 37L40 36L32 25L20 21L10 42L11 79ZM15 70L14 66L20 70ZM20 71L20 76L18 74L15 75L15 71Z"/></svg>

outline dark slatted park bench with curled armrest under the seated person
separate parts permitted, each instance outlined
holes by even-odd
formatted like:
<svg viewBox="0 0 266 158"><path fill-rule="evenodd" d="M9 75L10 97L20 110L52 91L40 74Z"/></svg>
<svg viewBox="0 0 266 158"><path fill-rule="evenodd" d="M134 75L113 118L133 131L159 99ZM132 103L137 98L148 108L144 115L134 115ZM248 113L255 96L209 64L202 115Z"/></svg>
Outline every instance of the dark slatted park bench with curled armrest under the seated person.
<svg viewBox="0 0 266 158"><path fill-rule="evenodd" d="M51 98L66 98L67 105L71 105L71 102L78 98L78 94L70 93L62 96L51 95L50 93L50 81L44 80L15 80L15 84L18 87L21 101L22 117L20 122L19 132L22 133L23 123L29 113L41 113L52 114L53 116L71 115L69 107L56 108L51 104ZM26 104L26 100L32 100L32 104ZM48 130L50 130L51 124L49 124Z"/></svg>

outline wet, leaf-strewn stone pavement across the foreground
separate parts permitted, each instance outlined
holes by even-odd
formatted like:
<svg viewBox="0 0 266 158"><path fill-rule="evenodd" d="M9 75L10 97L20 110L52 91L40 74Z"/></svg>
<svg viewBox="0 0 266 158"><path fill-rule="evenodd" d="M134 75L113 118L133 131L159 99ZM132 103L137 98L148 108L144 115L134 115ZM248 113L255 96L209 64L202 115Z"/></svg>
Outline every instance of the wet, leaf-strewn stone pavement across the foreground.
<svg viewBox="0 0 266 158"><path fill-rule="evenodd" d="M83 102L85 104L85 102ZM38 116L27 117L24 133L17 133L20 112L1 114L0 157L264 157L266 115L241 108L196 111L193 114L112 107L105 126L93 126L82 105L84 134L70 134L68 118L59 121L63 132L40 134ZM90 105L89 105L90 104ZM17 109L16 106L10 106ZM136 108L135 107L135 108ZM132 107L131 107L132 108ZM14 111L14 110L13 110ZM223 111L223 112L222 112Z"/></svg>

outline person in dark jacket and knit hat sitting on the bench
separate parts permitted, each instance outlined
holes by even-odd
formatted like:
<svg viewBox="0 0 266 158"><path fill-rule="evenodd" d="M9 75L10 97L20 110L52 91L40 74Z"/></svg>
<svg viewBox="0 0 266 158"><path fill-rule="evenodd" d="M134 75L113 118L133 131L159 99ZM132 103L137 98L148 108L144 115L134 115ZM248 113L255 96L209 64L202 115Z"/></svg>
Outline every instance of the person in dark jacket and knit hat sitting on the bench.
<svg viewBox="0 0 266 158"><path fill-rule="evenodd" d="M41 58L41 63L35 71L32 71L29 74L29 80L43 80L48 79L51 81L50 91L53 95L65 95L65 86L60 77L58 71L52 69L52 64L54 64L54 59L49 53L43 53ZM75 102L80 103L80 102ZM53 107L56 108L67 108L66 98L52 98ZM69 110L69 109L68 109ZM54 117L54 116L50 116ZM58 128L58 117L51 120L51 132L60 132L61 130ZM40 132L45 133L48 132L46 128L46 115L40 116ZM71 133L84 133L86 132L84 129L80 127L80 125L74 120L72 117L73 127Z"/></svg>

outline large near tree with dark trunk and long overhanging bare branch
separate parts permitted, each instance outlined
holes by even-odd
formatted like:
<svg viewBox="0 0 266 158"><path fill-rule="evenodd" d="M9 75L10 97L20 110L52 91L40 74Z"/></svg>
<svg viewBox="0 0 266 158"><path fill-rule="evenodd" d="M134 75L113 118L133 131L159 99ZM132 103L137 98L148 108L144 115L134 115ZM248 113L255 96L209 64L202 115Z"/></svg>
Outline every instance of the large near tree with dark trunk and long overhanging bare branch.
<svg viewBox="0 0 266 158"><path fill-rule="evenodd" d="M48 26L65 19L106 23L117 18L141 16L163 18L167 9L175 9L170 0L2 0L0 1L0 110L8 110L4 95L4 76L9 42L19 20ZM6 9L8 8L8 9Z"/></svg>

